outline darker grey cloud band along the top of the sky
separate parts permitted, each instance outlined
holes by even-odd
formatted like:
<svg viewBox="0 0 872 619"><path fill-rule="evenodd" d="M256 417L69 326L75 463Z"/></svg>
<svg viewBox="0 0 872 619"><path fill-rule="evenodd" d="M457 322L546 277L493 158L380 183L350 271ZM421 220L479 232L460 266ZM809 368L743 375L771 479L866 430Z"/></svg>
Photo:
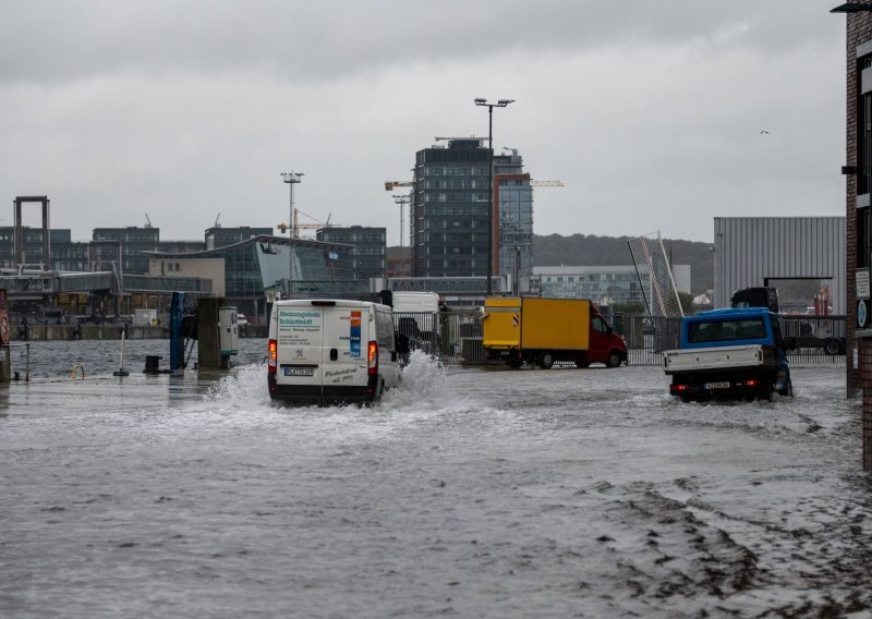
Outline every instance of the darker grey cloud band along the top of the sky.
<svg viewBox="0 0 872 619"><path fill-rule="evenodd" d="M17 2L0 23L0 80L264 71L324 80L363 68L507 50L572 52L702 40L787 51L831 45L843 17L795 1ZM790 13L790 19L773 20ZM630 52L631 53L631 52ZM638 59L640 64L643 58Z"/></svg>

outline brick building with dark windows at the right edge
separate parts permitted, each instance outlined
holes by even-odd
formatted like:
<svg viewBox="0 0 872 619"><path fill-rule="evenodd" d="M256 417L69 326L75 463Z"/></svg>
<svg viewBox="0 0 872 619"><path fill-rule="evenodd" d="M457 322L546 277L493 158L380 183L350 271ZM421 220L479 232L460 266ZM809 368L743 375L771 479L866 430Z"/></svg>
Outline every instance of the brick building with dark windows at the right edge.
<svg viewBox="0 0 872 619"><path fill-rule="evenodd" d="M848 395L862 390L863 469L872 471L872 2L833 9L847 14L846 308Z"/></svg>

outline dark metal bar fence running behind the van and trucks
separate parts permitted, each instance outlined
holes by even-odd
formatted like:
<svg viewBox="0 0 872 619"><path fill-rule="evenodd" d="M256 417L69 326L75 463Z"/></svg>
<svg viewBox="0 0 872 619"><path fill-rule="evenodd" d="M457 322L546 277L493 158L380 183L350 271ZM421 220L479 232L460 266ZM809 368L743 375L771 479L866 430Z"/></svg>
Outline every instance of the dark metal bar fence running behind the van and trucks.
<svg viewBox="0 0 872 619"><path fill-rule="evenodd" d="M616 314L611 323L627 342L630 365L661 365L663 351L680 347L681 318ZM443 364L487 363L481 312L395 312L393 325L411 350L432 354ZM845 316L782 316L782 325L784 336L797 342L797 348L788 352L791 364L845 363Z"/></svg>

